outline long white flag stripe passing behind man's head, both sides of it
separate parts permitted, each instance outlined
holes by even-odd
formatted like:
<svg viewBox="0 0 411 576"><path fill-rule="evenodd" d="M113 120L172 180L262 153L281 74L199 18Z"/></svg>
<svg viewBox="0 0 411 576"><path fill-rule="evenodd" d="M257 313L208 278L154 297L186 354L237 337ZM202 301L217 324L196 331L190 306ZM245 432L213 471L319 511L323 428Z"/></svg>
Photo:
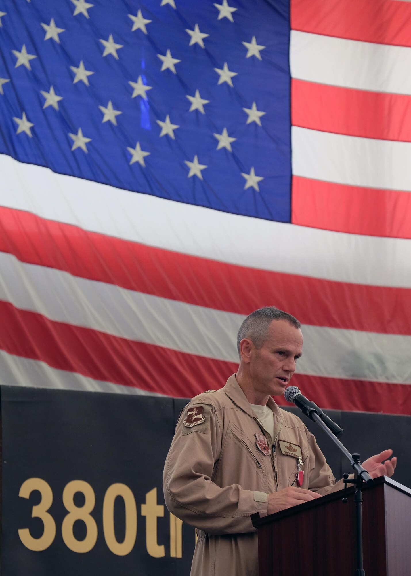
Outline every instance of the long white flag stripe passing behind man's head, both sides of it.
<svg viewBox="0 0 411 576"><path fill-rule="evenodd" d="M245 316L140 294L0 254L0 299L51 320L86 326L204 357L237 362ZM298 371L336 378L410 382L411 336L305 325Z"/></svg>

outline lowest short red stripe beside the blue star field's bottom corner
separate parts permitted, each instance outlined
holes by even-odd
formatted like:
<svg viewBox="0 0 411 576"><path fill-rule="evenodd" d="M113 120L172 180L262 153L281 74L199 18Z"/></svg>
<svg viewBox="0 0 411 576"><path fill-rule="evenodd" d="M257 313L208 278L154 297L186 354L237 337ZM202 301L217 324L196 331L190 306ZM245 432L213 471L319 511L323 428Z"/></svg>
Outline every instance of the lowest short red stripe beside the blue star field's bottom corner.
<svg viewBox="0 0 411 576"><path fill-rule="evenodd" d="M411 238L411 194L293 176L291 221L336 232Z"/></svg>

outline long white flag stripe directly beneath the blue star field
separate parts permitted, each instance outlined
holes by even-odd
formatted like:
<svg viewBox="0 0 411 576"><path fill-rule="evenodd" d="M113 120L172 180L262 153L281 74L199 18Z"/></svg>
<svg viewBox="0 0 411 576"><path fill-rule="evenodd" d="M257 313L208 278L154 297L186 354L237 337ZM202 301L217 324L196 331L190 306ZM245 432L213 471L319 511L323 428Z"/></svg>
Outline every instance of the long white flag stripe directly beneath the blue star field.
<svg viewBox="0 0 411 576"><path fill-rule="evenodd" d="M2 154L0 174L0 206L86 230L240 266L411 287L409 240L227 214L58 175Z"/></svg>

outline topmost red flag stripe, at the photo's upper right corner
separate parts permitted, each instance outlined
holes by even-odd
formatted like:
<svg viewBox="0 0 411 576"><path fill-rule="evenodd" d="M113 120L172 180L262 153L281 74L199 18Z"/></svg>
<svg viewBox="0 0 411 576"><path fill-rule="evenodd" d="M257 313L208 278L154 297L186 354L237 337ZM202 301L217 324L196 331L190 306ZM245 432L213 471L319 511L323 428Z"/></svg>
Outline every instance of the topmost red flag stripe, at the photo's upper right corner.
<svg viewBox="0 0 411 576"><path fill-rule="evenodd" d="M411 46L411 4L393 0L291 0L291 28L349 40Z"/></svg>

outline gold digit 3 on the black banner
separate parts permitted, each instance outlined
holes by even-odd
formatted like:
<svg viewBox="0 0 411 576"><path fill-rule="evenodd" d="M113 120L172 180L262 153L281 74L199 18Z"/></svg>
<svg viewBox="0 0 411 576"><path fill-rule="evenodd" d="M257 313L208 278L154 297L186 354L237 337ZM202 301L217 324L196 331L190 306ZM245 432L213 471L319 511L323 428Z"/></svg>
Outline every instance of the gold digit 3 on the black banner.
<svg viewBox="0 0 411 576"><path fill-rule="evenodd" d="M20 540L26 548L40 552L52 544L56 535L56 523L47 511L53 502L53 492L45 480L41 478L29 478L21 484L18 495L20 498L29 498L33 490L40 492L41 500L39 504L33 506L32 518L41 519L44 526L43 534L40 538L33 538L28 528L21 528L18 530L18 536L20 536Z"/></svg>

